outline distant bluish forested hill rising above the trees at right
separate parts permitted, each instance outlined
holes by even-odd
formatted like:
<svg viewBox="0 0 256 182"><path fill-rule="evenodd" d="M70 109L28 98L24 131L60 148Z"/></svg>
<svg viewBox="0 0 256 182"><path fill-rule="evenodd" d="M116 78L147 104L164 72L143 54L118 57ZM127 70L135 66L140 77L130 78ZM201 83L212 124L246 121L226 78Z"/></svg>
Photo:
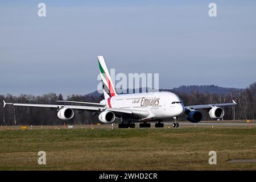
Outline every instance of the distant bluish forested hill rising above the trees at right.
<svg viewBox="0 0 256 182"><path fill-rule="evenodd" d="M237 89L237 88L225 88L217 85L188 85L188 86L179 86L178 88L173 89L160 89L163 91L175 92L175 93L186 93L189 94L191 92L198 93L209 93L209 94L228 94L232 92L243 91L245 89Z"/></svg>

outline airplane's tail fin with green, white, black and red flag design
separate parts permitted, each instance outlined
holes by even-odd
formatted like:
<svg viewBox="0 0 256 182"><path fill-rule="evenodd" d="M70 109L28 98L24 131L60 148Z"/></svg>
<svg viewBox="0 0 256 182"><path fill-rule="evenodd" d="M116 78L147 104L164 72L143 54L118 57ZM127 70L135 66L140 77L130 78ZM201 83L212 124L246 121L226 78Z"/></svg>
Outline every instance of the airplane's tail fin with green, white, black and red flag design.
<svg viewBox="0 0 256 182"><path fill-rule="evenodd" d="M103 56L98 56L98 65L100 67L102 89L105 99L117 95Z"/></svg>

